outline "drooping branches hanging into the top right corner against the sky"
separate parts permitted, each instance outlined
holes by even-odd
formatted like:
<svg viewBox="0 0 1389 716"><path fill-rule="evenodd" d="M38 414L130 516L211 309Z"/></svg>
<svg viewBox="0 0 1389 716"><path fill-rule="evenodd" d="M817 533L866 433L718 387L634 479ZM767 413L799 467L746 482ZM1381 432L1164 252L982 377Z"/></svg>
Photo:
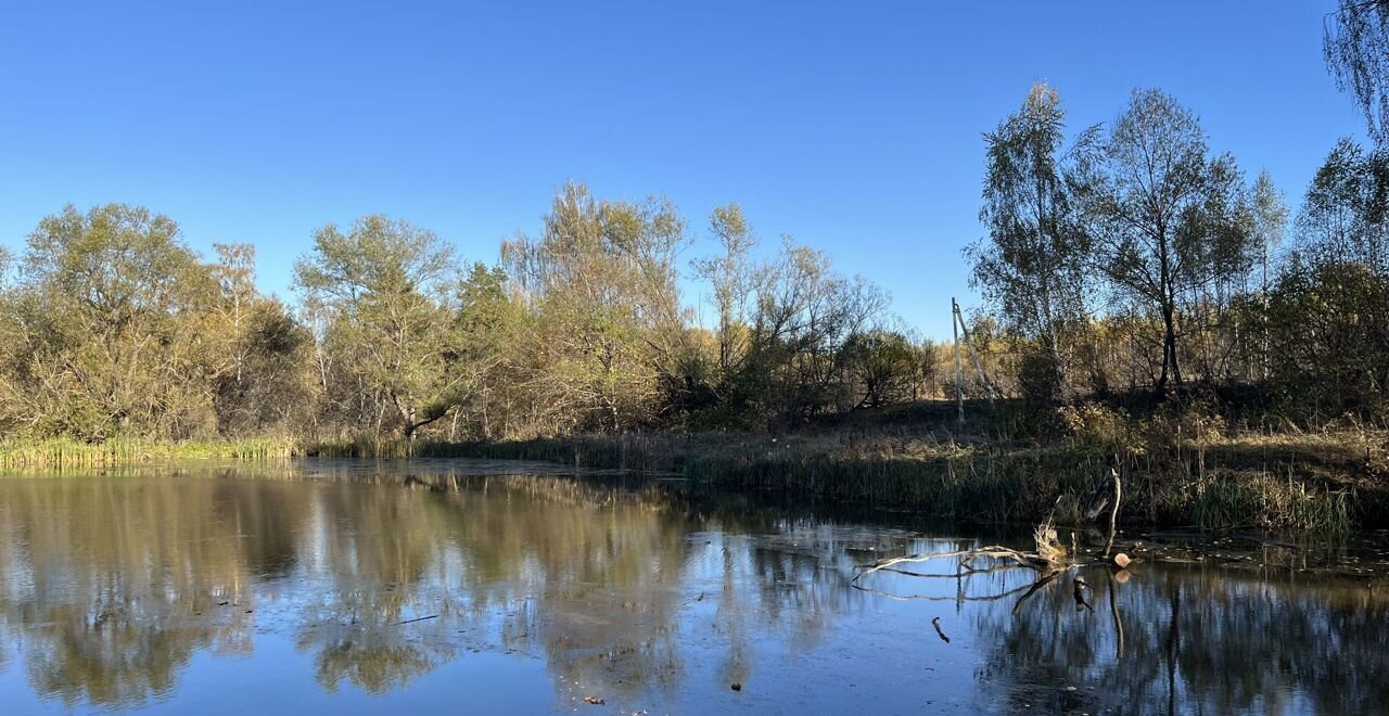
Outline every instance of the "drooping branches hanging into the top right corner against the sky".
<svg viewBox="0 0 1389 716"><path fill-rule="evenodd" d="M1339 0L1322 32L1336 89L1354 94L1370 133L1382 139L1389 126L1389 0Z"/></svg>

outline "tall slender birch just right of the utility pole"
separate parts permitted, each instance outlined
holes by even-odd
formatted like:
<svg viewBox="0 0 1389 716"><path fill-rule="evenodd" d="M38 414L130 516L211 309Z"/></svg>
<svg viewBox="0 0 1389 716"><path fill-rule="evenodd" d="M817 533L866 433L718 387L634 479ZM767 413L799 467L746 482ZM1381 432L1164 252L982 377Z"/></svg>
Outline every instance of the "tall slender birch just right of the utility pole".
<svg viewBox="0 0 1389 716"><path fill-rule="evenodd" d="M997 307L1007 327L1045 346L1043 357L1050 355L1061 386L1065 336L1085 316L1089 251L1063 167L1064 119L1056 90L1035 85L1022 108L985 135L979 219L989 239L965 250L971 283ZM1082 135L1082 147L1095 133Z"/></svg>

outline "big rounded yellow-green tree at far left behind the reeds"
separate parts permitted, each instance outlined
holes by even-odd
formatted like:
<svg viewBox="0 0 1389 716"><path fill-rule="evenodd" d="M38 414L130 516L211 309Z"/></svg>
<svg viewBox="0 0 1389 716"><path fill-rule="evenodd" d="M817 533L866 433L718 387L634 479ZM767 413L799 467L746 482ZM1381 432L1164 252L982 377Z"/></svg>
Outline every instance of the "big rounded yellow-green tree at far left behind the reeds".
<svg viewBox="0 0 1389 716"><path fill-rule="evenodd" d="M217 284L172 219L68 205L29 235L24 266L10 330L28 429L103 440L214 427Z"/></svg>

